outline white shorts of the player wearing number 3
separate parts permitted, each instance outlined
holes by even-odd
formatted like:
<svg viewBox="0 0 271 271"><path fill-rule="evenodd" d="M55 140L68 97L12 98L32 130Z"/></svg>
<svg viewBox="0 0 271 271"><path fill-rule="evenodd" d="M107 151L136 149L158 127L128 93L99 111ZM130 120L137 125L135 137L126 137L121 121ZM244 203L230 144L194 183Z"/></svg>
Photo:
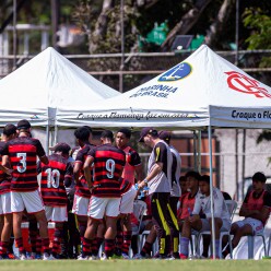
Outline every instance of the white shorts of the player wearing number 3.
<svg viewBox="0 0 271 271"><path fill-rule="evenodd" d="M11 191L11 211L12 213L23 212L37 213L44 210L44 201L38 190L31 192Z"/></svg>

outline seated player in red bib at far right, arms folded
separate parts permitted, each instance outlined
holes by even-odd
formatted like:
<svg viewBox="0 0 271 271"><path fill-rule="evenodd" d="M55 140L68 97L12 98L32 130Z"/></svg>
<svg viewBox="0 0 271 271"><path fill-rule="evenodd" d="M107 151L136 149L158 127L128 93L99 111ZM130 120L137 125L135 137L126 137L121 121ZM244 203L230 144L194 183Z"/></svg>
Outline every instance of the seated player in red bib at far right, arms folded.
<svg viewBox="0 0 271 271"><path fill-rule="evenodd" d="M267 177L262 173L258 172L252 176L252 190L246 195L239 211L239 215L245 219L233 223L231 227L231 234L234 235L233 248L239 244L241 236L263 233L271 211L271 195L264 190L266 181ZM228 247L223 256L226 257L227 254Z"/></svg>

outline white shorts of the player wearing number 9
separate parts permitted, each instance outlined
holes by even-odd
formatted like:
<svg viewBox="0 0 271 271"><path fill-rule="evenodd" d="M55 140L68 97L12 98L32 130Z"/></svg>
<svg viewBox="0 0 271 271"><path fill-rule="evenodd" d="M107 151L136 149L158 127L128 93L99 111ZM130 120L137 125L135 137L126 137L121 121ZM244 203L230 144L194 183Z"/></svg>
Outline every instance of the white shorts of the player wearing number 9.
<svg viewBox="0 0 271 271"><path fill-rule="evenodd" d="M87 215L95 220L104 216L117 217L119 215L120 198L91 197Z"/></svg>

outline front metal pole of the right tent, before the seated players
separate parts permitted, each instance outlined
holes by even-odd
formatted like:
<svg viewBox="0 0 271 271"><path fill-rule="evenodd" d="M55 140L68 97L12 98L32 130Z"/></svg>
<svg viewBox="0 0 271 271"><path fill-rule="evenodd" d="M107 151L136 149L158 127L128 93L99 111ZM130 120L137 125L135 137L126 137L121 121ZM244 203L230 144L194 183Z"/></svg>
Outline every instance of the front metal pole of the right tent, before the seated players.
<svg viewBox="0 0 271 271"><path fill-rule="evenodd" d="M212 250L213 259L215 259L215 226L214 226L214 213L213 213L213 157L212 157L212 129L211 125L208 127L208 140L209 140L209 164L210 164L210 200L211 200L211 215L212 215Z"/></svg>

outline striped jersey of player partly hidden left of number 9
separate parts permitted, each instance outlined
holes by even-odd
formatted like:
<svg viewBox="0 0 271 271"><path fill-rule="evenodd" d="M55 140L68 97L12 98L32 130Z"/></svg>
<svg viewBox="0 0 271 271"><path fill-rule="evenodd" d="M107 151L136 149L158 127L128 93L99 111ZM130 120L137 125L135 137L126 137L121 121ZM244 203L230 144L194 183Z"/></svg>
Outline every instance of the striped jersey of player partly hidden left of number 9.
<svg viewBox="0 0 271 271"><path fill-rule="evenodd" d="M75 195L80 197L84 197L84 198L91 198L91 191L90 191L87 181L84 177L83 165L86 160L89 151L92 150L93 148L95 148L95 145L85 144L83 148L79 150L76 154L76 158L75 158L75 163L79 163L81 165L80 178L75 185Z"/></svg>

